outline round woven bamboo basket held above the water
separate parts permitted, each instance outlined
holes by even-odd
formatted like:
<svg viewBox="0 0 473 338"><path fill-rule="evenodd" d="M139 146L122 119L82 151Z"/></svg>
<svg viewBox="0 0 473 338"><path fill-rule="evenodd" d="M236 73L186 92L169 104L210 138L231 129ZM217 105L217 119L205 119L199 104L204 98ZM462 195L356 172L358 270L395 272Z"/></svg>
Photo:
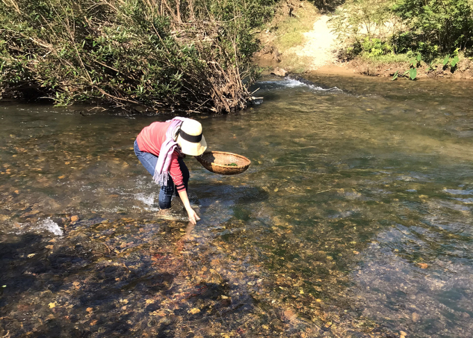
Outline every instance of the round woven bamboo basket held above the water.
<svg viewBox="0 0 473 338"><path fill-rule="evenodd" d="M248 169L251 161L245 156L232 154L231 152L205 152L195 156L205 169L220 175L236 175ZM235 163L236 166L228 166Z"/></svg>

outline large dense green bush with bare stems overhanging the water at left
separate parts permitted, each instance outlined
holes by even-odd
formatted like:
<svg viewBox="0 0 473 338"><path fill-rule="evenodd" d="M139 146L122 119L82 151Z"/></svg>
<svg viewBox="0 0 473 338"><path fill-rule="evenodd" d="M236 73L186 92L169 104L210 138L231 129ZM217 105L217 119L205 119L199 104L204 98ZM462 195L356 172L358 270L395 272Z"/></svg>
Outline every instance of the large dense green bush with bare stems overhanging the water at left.
<svg viewBox="0 0 473 338"><path fill-rule="evenodd" d="M271 0L0 1L0 90L230 112ZM1 92L0 92L1 93Z"/></svg>

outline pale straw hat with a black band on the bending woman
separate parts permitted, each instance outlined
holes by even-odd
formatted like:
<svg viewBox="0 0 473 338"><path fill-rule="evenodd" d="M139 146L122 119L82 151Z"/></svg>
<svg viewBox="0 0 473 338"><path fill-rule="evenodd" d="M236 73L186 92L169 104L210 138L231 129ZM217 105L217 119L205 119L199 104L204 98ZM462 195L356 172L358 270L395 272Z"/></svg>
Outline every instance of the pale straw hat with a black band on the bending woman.
<svg viewBox="0 0 473 338"><path fill-rule="evenodd" d="M187 155L199 156L207 149L207 142L202 135L202 124L190 118L182 122L176 142Z"/></svg>

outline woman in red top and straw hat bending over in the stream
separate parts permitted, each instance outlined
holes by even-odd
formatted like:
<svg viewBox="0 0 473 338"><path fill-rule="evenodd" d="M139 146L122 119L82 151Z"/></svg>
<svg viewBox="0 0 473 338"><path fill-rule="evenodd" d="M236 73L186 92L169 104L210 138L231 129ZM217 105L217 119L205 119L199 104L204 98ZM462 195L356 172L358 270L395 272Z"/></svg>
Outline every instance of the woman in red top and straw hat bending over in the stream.
<svg viewBox="0 0 473 338"><path fill-rule="evenodd" d="M202 135L202 124L190 118L173 118L166 122L153 122L138 134L135 154L151 175L161 185L159 191L159 215L169 216L171 198L181 198L189 221L195 225L195 214L187 196L189 170L182 159L184 154L198 156L205 152L207 143Z"/></svg>

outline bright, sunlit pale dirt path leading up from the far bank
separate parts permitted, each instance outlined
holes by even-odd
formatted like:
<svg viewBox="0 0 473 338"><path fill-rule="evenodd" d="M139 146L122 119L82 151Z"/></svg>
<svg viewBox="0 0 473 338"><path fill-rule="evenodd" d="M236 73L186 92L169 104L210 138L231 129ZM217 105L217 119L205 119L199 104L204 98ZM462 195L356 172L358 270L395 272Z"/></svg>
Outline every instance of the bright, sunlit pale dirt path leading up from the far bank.
<svg viewBox="0 0 473 338"><path fill-rule="evenodd" d="M328 24L327 15L322 15L316 22L312 31L304 33L305 45L289 49L297 56L309 58L310 65L307 70L316 70L323 65L335 61L335 51L337 35L332 33L330 24Z"/></svg>

